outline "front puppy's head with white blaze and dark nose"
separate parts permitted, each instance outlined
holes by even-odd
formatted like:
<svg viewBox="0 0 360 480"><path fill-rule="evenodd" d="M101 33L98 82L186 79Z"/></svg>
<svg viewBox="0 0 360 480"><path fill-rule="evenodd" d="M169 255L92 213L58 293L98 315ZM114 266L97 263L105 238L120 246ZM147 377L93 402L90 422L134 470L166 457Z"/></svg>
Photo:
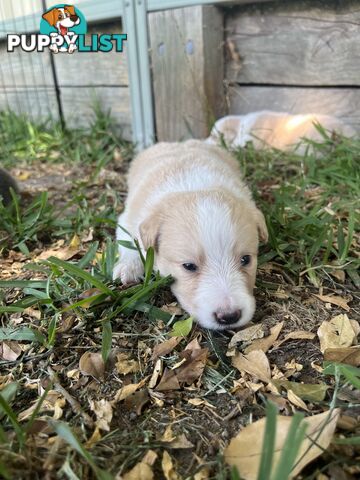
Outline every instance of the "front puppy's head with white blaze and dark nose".
<svg viewBox="0 0 360 480"><path fill-rule="evenodd" d="M174 278L172 290L200 325L224 330L253 316L259 238L267 240L262 213L222 191L174 194L141 224L144 248L156 268Z"/></svg>

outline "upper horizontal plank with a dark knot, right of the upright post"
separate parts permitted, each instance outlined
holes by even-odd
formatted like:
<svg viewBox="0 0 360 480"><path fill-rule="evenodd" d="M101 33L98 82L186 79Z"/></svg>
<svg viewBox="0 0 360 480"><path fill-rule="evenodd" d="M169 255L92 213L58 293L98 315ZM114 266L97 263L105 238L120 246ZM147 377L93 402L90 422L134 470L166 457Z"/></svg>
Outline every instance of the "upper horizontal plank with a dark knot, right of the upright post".
<svg viewBox="0 0 360 480"><path fill-rule="evenodd" d="M358 2L283 2L229 10L226 79L245 84L360 85Z"/></svg>

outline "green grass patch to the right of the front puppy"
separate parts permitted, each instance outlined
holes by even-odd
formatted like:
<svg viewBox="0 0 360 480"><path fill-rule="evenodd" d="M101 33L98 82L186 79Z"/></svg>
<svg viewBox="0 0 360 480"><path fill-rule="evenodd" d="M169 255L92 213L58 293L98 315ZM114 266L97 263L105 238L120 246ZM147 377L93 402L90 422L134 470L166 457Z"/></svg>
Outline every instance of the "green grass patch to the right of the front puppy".
<svg viewBox="0 0 360 480"><path fill-rule="evenodd" d="M269 246L260 264L275 261L295 281L306 276L315 286L341 270L359 287L360 142L324 133L324 142L312 147L304 158L236 152L251 184L260 185L254 194L267 215Z"/></svg>

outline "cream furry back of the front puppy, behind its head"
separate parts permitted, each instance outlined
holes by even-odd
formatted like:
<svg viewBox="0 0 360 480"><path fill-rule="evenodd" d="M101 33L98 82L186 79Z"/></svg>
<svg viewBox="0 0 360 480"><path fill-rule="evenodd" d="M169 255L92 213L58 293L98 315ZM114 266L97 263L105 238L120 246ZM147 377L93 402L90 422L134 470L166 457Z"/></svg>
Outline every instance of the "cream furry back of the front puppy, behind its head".
<svg viewBox="0 0 360 480"><path fill-rule="evenodd" d="M224 149L199 140L159 143L140 153L130 167L128 184L127 203L136 210L176 192L220 188L239 198L250 197L236 160Z"/></svg>

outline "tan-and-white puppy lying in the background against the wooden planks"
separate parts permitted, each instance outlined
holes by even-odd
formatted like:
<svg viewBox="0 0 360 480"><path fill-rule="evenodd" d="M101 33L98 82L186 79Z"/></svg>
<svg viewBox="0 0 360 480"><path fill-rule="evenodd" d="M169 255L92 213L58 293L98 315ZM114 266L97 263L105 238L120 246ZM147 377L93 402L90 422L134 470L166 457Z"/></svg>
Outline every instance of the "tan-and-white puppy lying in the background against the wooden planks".
<svg viewBox="0 0 360 480"><path fill-rule="evenodd" d="M301 143L302 139L323 141L316 124L320 124L330 133L337 132L347 137L355 134L352 127L330 115L290 115L284 112L261 111L220 118L206 141L217 144L223 138L225 143L232 147L245 147L247 142L252 142L257 150L277 148L283 151L295 150L299 155L304 155L309 147Z"/></svg>

